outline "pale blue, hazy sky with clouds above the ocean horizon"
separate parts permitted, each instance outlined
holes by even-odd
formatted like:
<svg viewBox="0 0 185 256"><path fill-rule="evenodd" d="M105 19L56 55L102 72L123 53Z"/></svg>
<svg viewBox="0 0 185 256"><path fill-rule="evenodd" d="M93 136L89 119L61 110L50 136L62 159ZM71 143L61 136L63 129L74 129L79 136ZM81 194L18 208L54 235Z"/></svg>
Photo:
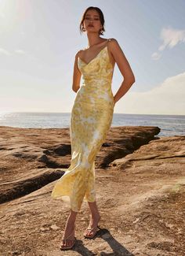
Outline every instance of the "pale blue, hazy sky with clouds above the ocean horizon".
<svg viewBox="0 0 185 256"><path fill-rule="evenodd" d="M136 79L114 113L185 115L184 0L0 0L0 113L71 113L89 6L103 11L101 37L118 41ZM123 79L115 65L113 95Z"/></svg>

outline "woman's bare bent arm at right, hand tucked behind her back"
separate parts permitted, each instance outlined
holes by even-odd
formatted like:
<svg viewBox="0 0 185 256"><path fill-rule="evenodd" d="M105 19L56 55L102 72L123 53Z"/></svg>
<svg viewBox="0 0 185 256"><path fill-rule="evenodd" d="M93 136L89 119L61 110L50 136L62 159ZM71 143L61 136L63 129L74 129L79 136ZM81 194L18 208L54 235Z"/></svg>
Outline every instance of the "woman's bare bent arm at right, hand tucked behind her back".
<svg viewBox="0 0 185 256"><path fill-rule="evenodd" d="M124 78L117 93L114 95L115 104L115 102L118 102L118 100L122 98L122 96L125 95L127 91L129 91L129 88L132 86L132 83L135 82L135 76L132 72L129 62L125 58L125 54L123 53L122 48L119 46L116 39L111 39L110 50L111 54L114 57L114 61L117 63L118 68Z"/></svg>

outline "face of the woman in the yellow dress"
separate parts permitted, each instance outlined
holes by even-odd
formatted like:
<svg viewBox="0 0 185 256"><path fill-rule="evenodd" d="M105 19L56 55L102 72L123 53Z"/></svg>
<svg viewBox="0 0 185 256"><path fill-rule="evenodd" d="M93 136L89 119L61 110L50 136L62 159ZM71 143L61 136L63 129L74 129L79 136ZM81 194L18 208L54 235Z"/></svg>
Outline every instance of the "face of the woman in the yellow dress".
<svg viewBox="0 0 185 256"><path fill-rule="evenodd" d="M102 28L100 15L95 9L89 9L85 14L84 28L86 32L98 32Z"/></svg>

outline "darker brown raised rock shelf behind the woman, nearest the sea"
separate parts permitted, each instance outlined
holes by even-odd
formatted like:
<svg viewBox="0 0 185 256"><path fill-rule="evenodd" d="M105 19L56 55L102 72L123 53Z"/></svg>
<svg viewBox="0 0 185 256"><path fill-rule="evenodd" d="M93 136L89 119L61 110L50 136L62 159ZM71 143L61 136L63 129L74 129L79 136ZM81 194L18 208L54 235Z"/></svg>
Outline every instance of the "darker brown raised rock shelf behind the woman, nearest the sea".
<svg viewBox="0 0 185 256"><path fill-rule="evenodd" d="M96 168L107 167L114 159L132 153L139 145L154 139L154 135L158 132L160 129L156 127L111 128L107 141L104 143L109 147L101 148L96 157ZM67 128L40 129L2 126L0 134L2 138L0 157L4 169L1 173L3 183L0 185L0 202L8 202L27 195L59 179L64 173L61 169L66 169L70 165L70 132ZM36 134L37 140L35 140ZM49 152L48 155L44 153L45 150ZM23 157L25 152L27 152L27 157ZM8 179L7 173L9 173Z"/></svg>

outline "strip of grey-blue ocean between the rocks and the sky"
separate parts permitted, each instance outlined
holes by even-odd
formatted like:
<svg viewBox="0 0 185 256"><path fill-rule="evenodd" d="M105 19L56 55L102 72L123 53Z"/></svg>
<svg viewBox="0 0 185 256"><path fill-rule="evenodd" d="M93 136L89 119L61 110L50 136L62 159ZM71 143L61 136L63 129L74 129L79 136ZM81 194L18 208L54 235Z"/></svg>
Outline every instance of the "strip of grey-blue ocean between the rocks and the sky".
<svg viewBox="0 0 185 256"><path fill-rule="evenodd" d="M0 126L16 128L69 128L71 113L0 113ZM158 136L185 135L185 116L114 113L114 126L158 126Z"/></svg>

